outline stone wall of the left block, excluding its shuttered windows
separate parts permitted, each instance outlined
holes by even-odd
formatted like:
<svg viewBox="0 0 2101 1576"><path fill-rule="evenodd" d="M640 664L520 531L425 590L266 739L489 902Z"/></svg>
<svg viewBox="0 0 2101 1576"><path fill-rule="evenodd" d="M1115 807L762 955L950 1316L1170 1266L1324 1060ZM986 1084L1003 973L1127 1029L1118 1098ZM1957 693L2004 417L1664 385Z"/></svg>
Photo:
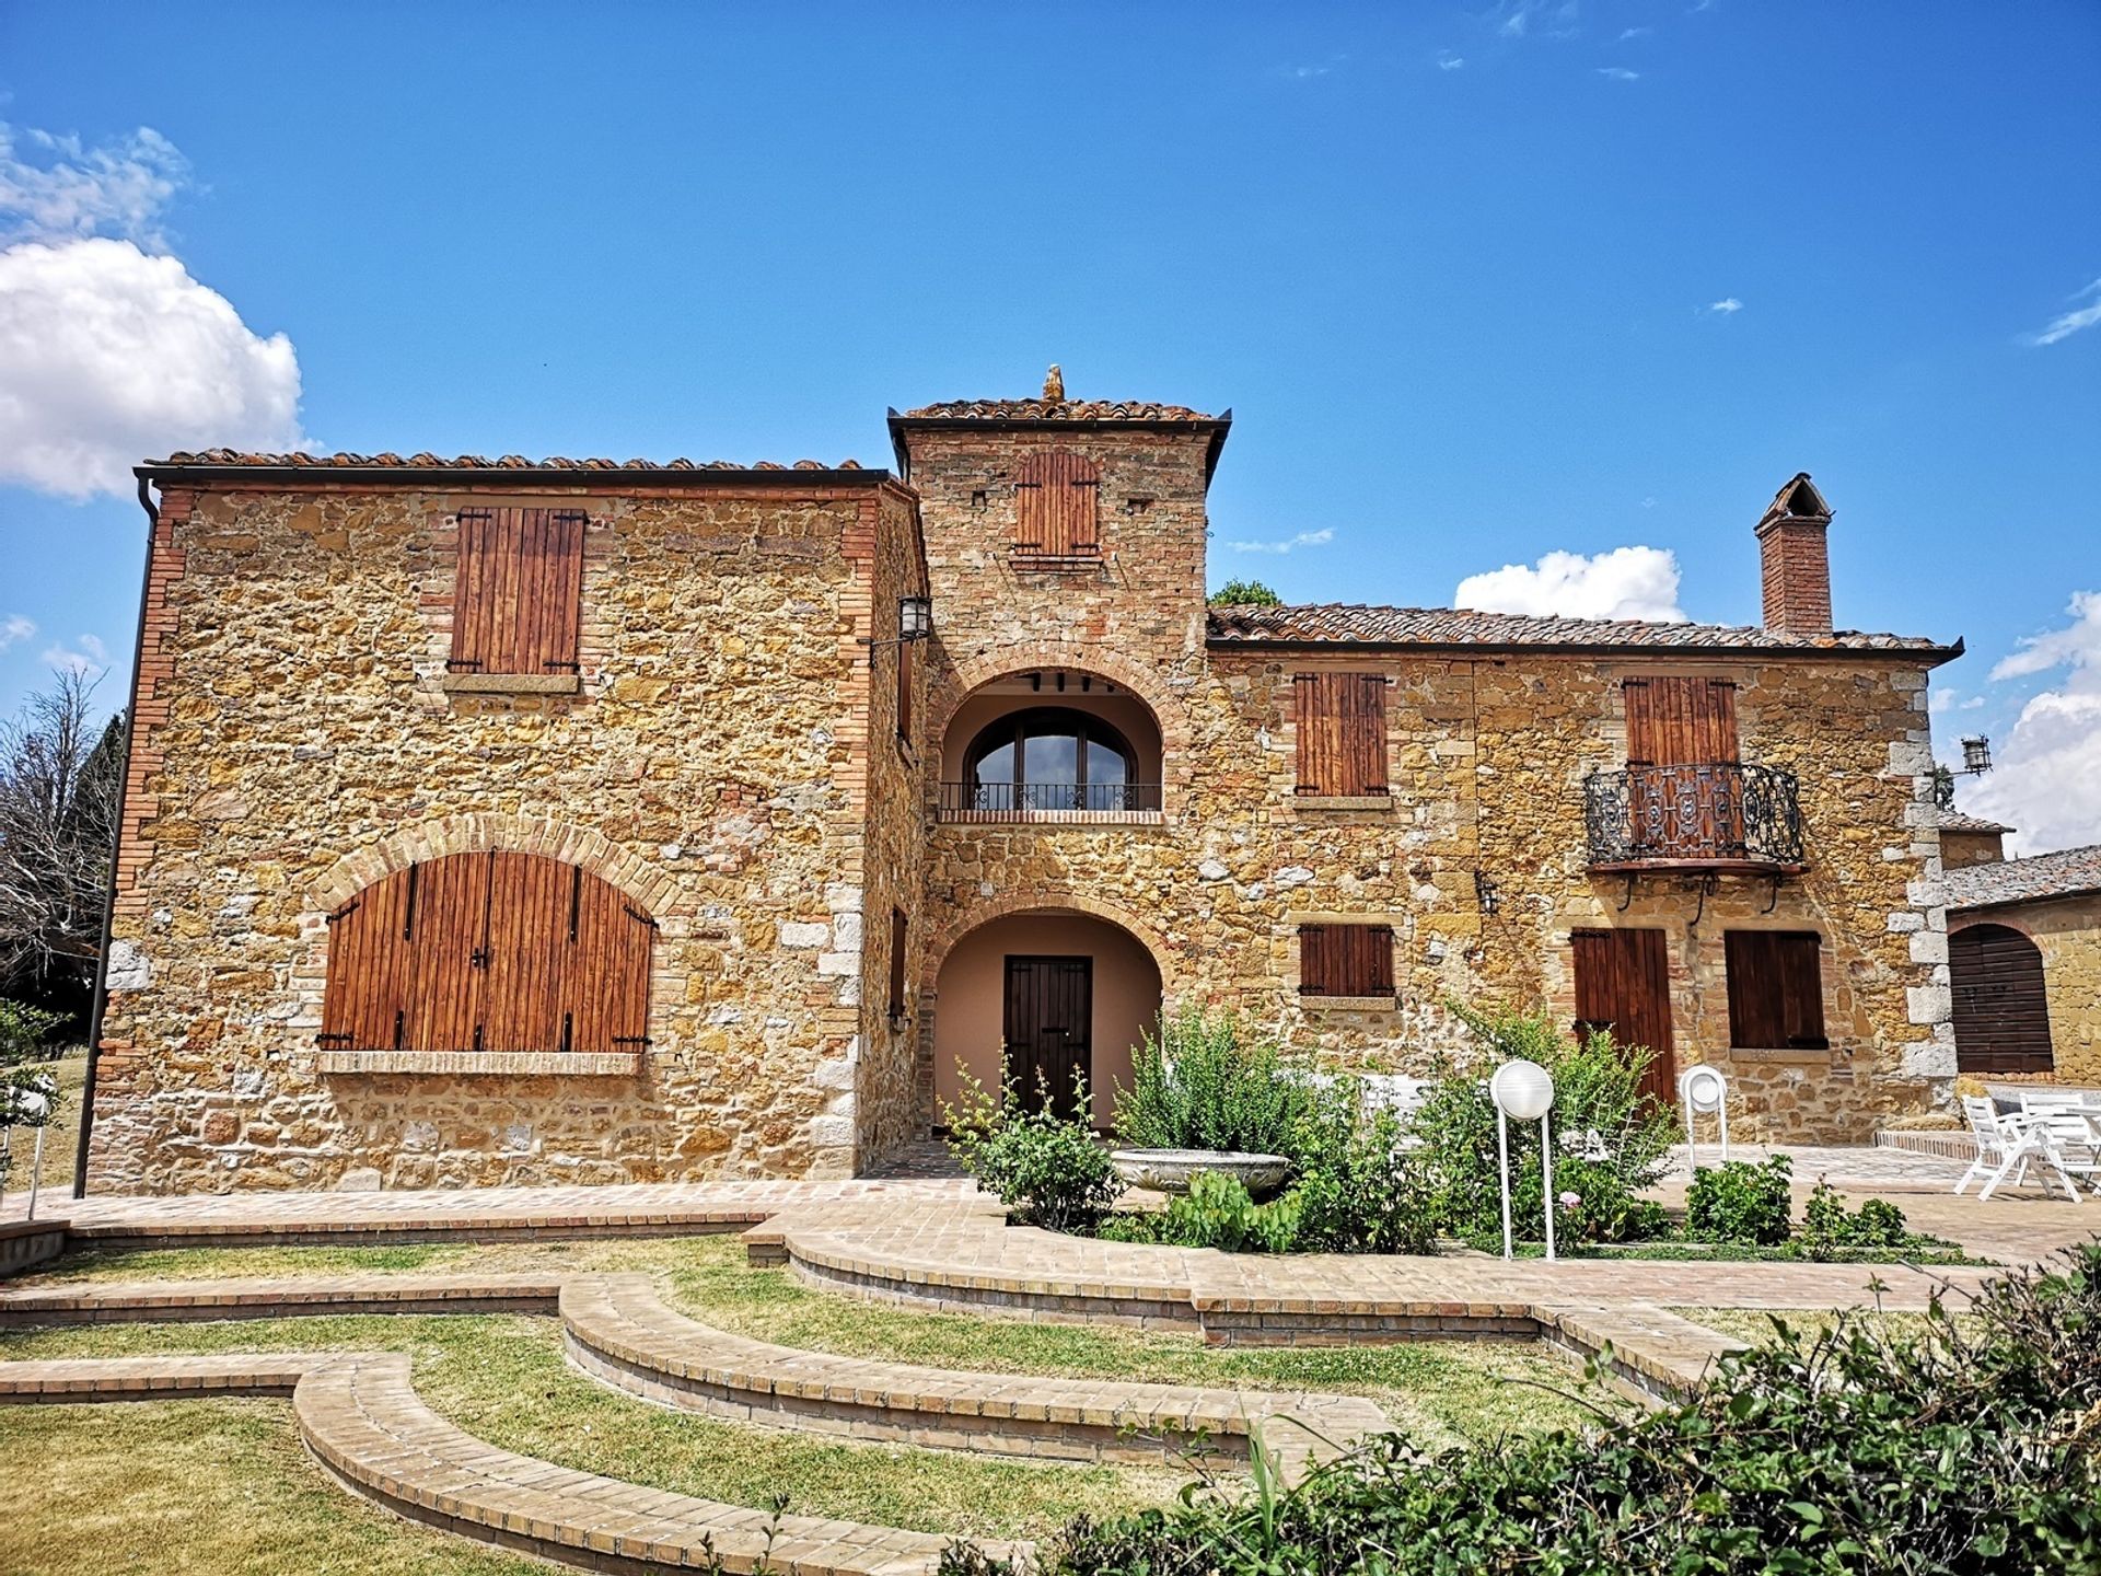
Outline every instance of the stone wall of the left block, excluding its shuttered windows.
<svg viewBox="0 0 2101 1576"><path fill-rule="evenodd" d="M95 1189L855 1168L859 639L910 496L880 473L469 485L164 492ZM574 693L448 689L462 502L588 511ZM584 864L656 916L641 1074L321 1074L328 912L483 847Z"/></svg>

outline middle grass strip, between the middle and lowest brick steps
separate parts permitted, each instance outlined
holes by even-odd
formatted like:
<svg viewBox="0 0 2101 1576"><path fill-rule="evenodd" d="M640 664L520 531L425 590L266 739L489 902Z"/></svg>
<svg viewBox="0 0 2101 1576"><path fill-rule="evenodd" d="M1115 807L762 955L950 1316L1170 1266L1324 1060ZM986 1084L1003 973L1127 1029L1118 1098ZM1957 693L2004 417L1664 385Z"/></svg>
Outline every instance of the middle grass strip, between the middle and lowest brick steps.
<svg viewBox="0 0 2101 1576"><path fill-rule="evenodd" d="M1168 1467L1034 1465L834 1444L670 1412L584 1378L563 1362L555 1322L525 1315L124 1324L0 1336L6 1360L387 1349L408 1351L424 1402L479 1439L561 1467L752 1509L771 1509L775 1494L788 1494L788 1509L798 1515L983 1538L1042 1536L1074 1515L1164 1502L1185 1477ZM0 1450L13 1450L17 1429L36 1414L38 1408L0 1408Z"/></svg>

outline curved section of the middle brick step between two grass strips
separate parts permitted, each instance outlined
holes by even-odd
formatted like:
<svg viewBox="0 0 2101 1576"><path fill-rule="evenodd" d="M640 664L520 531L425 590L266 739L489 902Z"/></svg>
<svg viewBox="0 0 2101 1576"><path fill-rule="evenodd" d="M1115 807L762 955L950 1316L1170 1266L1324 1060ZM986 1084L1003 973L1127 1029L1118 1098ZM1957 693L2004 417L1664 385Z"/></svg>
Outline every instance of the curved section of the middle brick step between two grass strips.
<svg viewBox="0 0 2101 1576"><path fill-rule="evenodd" d="M666 1307L647 1276L561 1290L571 1362L630 1395L773 1427L1067 1460L1160 1460L1198 1444L1248 1458L1261 1431L1286 1473L1391 1427L1351 1395L1240 1393L1044 1374L985 1374L803 1351Z"/></svg>

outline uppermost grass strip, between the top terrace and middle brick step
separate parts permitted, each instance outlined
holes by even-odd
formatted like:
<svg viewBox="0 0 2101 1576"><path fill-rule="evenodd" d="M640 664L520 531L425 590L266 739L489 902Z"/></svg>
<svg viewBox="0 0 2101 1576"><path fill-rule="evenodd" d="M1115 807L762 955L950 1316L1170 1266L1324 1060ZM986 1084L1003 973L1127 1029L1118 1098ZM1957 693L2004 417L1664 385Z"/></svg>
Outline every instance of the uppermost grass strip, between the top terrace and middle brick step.
<svg viewBox="0 0 2101 1576"><path fill-rule="evenodd" d="M1235 1389L1364 1395L1424 1446L1576 1427L1590 1412L1555 1391L1576 1374L1530 1343L1424 1341L1393 1347L1206 1347L1195 1334L1111 1326L1021 1324L914 1313L819 1292L784 1269L752 1269L735 1236L542 1244L408 1244L387 1248L170 1248L69 1254L34 1282L298 1276L349 1271L639 1269L668 1303L723 1330L849 1357L1006 1374L1128 1378ZM321 1320L288 1322L286 1339ZM116 1332L122 1326L103 1326ZM254 1328L254 1326L248 1326ZM378 1341L378 1345L393 1345ZM237 1349L237 1347L233 1347ZM1599 1402L1599 1397L1586 1397Z"/></svg>

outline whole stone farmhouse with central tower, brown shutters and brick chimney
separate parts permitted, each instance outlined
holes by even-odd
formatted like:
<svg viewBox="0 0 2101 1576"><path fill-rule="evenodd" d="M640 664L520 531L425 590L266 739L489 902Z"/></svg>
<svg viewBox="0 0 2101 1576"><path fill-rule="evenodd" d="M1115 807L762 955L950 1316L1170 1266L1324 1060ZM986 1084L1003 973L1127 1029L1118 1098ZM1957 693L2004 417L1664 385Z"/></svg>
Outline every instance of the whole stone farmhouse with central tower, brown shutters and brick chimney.
<svg viewBox="0 0 2101 1576"><path fill-rule="evenodd" d="M1748 1135L1948 1105L1960 645L1832 628L1807 475L1756 628L1206 607L1229 427L1046 389L891 412L895 471L141 466L86 1183L840 1177L958 1067L1105 1120L1189 1000L1380 1070L1544 1002Z"/></svg>

